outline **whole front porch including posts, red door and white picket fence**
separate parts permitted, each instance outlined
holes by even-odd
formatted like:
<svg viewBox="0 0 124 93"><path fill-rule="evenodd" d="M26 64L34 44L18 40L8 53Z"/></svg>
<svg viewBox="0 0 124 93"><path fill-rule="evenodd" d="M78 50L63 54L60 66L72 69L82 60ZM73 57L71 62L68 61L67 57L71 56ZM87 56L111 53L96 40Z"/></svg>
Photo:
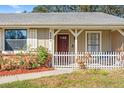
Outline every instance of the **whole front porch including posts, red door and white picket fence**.
<svg viewBox="0 0 124 93"><path fill-rule="evenodd" d="M82 59L85 53L92 56L86 68L124 67L122 29L50 29L50 36L55 68L78 68L76 59Z"/></svg>

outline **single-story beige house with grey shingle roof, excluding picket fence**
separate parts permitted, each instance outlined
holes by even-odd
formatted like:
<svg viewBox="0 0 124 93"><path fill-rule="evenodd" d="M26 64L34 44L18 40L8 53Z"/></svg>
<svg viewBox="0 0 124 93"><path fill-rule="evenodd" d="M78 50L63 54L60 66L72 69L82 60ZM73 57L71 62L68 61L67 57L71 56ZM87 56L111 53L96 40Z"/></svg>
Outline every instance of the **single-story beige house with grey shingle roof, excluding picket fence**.
<svg viewBox="0 0 124 93"><path fill-rule="evenodd" d="M124 19L102 12L0 14L2 53L39 46L52 54L124 49Z"/></svg>

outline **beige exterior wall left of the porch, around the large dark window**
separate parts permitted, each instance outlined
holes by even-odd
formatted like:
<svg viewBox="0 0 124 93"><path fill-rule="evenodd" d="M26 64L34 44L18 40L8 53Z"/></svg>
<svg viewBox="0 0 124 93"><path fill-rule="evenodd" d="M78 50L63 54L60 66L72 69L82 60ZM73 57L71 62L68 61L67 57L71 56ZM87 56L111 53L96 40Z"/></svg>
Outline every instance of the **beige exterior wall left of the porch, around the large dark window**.
<svg viewBox="0 0 124 93"><path fill-rule="evenodd" d="M27 29L27 49L35 49L38 46L49 47L49 29ZM4 32L0 29L0 51L4 51ZM5 51L3 53L6 53ZM10 52L9 52L10 53ZM14 53L14 52L12 52Z"/></svg>

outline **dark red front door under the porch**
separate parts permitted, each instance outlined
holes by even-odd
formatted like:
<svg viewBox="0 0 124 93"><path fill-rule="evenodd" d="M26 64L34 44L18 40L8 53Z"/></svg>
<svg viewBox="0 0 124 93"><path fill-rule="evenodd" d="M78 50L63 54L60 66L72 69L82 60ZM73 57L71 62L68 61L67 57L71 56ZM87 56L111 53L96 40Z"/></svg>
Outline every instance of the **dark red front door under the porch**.
<svg viewBox="0 0 124 93"><path fill-rule="evenodd" d="M69 36L57 35L57 51L68 52L69 50Z"/></svg>

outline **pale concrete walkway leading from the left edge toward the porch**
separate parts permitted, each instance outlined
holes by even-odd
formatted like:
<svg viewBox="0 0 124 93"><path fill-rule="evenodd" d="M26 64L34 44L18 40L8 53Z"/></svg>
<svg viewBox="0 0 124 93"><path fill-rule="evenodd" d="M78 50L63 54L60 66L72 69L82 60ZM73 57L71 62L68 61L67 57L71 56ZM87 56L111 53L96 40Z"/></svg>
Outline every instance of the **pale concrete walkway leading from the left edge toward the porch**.
<svg viewBox="0 0 124 93"><path fill-rule="evenodd" d="M0 84L3 83L11 83L13 81L21 81L21 80L28 80L28 79L35 79L45 76L55 76L64 73L71 73L72 69L56 69L53 71L45 71L45 72L35 72L35 73L28 73L28 74L19 74L13 76L3 76L0 77Z"/></svg>

